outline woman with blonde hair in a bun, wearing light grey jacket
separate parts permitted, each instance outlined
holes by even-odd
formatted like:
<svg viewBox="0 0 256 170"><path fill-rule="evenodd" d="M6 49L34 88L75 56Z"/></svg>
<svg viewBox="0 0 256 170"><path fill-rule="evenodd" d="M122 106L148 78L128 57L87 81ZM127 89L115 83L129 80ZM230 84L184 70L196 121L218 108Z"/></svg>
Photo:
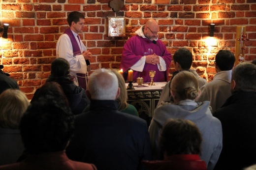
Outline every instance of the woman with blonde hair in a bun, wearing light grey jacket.
<svg viewBox="0 0 256 170"><path fill-rule="evenodd" d="M203 138L201 159L208 170L213 170L222 151L222 125L213 117L209 101L195 102L200 91L196 77L188 71L179 72L170 85L173 103L163 103L155 111L149 127L155 159L163 159L158 139L162 127L169 118L191 120L200 130Z"/></svg>

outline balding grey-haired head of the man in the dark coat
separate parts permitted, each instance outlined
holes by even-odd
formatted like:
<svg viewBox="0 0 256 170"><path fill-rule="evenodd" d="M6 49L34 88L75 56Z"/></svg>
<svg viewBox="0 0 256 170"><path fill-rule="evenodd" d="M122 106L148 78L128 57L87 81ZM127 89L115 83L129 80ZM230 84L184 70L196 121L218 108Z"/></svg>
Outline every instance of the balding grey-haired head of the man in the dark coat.
<svg viewBox="0 0 256 170"><path fill-rule="evenodd" d="M111 70L97 69L88 79L87 95L92 100L115 100L119 91L117 76Z"/></svg>

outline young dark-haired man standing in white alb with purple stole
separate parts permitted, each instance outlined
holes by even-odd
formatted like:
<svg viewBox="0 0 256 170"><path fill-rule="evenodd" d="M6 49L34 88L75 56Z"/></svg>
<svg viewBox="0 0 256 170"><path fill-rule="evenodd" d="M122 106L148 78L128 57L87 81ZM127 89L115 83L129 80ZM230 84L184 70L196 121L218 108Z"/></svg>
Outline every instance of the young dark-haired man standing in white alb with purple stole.
<svg viewBox="0 0 256 170"><path fill-rule="evenodd" d="M87 73L90 72L92 53L88 51L81 41L78 33L84 29L84 15L80 12L70 12L67 17L67 28L60 36L56 45L57 58L62 57L70 64L70 74L74 76L75 85L87 88Z"/></svg>

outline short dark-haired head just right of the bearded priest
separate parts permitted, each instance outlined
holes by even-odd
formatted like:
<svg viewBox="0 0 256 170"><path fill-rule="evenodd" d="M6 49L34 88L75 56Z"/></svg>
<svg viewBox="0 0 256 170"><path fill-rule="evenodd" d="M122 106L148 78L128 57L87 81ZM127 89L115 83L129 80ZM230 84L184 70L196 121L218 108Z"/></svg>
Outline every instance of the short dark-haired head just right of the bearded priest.
<svg viewBox="0 0 256 170"><path fill-rule="evenodd" d="M181 69L190 69L192 65L192 53L186 48L178 49L173 55L173 61L175 63L179 63ZM176 67L175 67L176 68Z"/></svg>

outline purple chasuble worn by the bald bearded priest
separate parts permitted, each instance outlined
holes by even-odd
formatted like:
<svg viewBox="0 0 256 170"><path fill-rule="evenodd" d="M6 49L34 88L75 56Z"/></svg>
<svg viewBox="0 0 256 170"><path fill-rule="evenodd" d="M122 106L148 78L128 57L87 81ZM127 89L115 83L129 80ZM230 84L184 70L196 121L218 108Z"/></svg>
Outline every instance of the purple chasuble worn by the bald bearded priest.
<svg viewBox="0 0 256 170"><path fill-rule="evenodd" d="M156 41L157 44L154 44L151 40L147 38L142 38L138 35L135 35L128 39L126 42L122 59L121 66L124 70L124 78L126 80L126 72L128 69L133 66L141 57L147 55L153 55L154 53L164 59L166 62L166 71L159 71L158 65L153 65L149 63L145 63L143 71L135 71L133 70L133 81L136 81L137 77L143 77L144 82L150 82L149 71L156 71L156 75L154 77L154 82L165 82L167 81L169 65L171 63L171 54L166 50L166 46L160 41Z"/></svg>

